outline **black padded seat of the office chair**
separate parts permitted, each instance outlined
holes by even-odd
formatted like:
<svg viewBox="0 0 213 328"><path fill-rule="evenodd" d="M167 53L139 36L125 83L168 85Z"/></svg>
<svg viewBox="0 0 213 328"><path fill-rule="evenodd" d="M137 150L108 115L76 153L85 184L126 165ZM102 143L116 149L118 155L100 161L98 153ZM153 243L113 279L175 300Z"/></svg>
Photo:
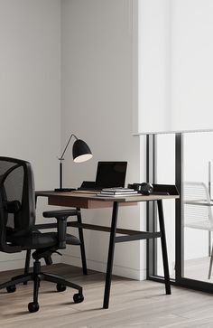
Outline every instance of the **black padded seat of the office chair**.
<svg viewBox="0 0 213 328"><path fill-rule="evenodd" d="M38 230L32 231L31 233L23 236L17 236L14 233L8 236L7 241L14 245L22 246L24 249L48 248L58 244L58 233L42 233ZM67 234L66 243L69 245L80 245L80 240L75 236Z"/></svg>

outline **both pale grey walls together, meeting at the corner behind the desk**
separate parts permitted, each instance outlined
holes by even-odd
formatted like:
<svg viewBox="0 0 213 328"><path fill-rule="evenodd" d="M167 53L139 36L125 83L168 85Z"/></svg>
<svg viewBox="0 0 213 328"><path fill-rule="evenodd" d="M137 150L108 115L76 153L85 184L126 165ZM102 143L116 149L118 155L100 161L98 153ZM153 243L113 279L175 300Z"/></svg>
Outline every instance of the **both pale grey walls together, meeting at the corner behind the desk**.
<svg viewBox="0 0 213 328"><path fill-rule="evenodd" d="M126 183L138 181L132 23L132 0L0 1L1 154L29 160L37 190L58 185L56 156L70 132L87 140L94 158L77 165L68 152L64 184L94 180L98 160L127 160ZM39 214L45 205L38 202ZM139 207L121 214L120 226L139 228ZM110 210L83 211L92 223L99 218L107 225L110 216ZM106 234L86 232L88 267L105 270L107 241ZM142 276L138 246L117 245L115 273ZM72 249L72 258L70 248L67 254L63 259L80 265L79 248ZM23 258L1 255L1 269L23 267Z"/></svg>

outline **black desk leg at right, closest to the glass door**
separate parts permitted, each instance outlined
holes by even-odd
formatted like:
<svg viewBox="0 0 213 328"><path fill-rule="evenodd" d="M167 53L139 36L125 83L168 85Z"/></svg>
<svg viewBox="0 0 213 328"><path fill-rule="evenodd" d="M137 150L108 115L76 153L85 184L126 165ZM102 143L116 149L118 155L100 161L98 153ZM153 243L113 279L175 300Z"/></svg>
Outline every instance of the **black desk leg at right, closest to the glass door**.
<svg viewBox="0 0 213 328"><path fill-rule="evenodd" d="M164 224L164 215L162 209L162 200L157 201L158 203L158 215L159 215L159 225L160 230L162 232L162 263L164 270L164 278L165 278L165 289L166 294L171 294L171 283L170 283L170 272L169 272L169 263L168 263L168 255L167 255L167 247L166 247L166 235L165 235L165 224Z"/></svg>

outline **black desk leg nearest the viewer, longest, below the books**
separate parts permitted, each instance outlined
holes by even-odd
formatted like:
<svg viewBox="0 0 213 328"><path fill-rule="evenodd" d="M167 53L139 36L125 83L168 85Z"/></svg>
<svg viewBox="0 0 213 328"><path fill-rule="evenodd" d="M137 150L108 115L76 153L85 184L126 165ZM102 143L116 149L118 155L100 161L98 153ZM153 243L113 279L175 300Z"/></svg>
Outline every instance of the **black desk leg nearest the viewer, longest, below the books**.
<svg viewBox="0 0 213 328"><path fill-rule="evenodd" d="M104 295L104 304L103 304L104 309L108 308L108 303L109 303L109 295L110 295L110 287L111 287L112 271L113 271L113 259L114 259L114 251L115 251L117 212L118 212L118 203L115 201L113 204L112 222L111 222L110 238L109 238L109 246L108 246L105 295Z"/></svg>

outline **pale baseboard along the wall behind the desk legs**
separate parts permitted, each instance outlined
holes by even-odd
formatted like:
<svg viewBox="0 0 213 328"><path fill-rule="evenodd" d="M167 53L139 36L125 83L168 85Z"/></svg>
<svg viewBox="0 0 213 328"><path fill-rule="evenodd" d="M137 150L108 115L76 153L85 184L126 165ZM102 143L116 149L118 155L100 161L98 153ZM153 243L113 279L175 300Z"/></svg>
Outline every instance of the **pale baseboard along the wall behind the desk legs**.
<svg viewBox="0 0 213 328"><path fill-rule="evenodd" d="M69 264L75 267L82 267L81 258L74 257L68 254L63 255L63 257L61 258L61 263ZM87 266L91 270L106 272L106 263L104 262L99 262L87 258ZM134 280L145 280L146 278L145 269L137 270L131 267L120 267L117 265L114 265L113 267L113 274L116 276L125 276Z"/></svg>

